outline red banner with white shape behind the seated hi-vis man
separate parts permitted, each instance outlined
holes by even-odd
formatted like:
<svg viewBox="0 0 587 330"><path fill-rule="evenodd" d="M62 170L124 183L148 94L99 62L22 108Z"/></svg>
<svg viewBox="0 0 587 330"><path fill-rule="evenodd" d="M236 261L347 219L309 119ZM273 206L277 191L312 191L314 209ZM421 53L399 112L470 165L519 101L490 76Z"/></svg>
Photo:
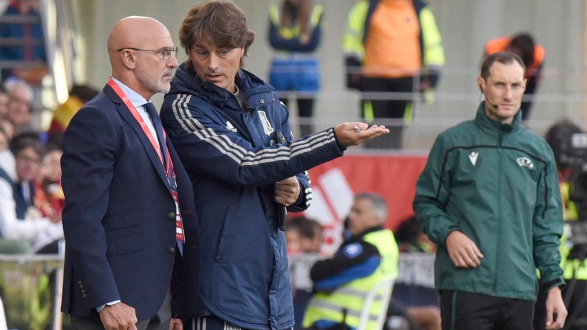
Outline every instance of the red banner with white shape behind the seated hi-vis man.
<svg viewBox="0 0 587 330"><path fill-rule="evenodd" d="M327 245L338 246L341 226L349 214L353 196L372 192L387 201L386 227L394 229L414 214L411 203L416 194L416 180L426 159L426 156L349 155L316 166L309 171L313 198L304 215L325 227Z"/></svg>

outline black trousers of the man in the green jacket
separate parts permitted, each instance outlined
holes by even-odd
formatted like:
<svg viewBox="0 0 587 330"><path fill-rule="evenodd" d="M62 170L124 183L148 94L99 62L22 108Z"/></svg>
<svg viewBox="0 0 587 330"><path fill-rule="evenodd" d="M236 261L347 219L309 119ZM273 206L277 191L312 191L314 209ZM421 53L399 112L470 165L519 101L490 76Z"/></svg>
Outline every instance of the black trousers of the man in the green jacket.
<svg viewBox="0 0 587 330"><path fill-rule="evenodd" d="M532 329L534 302L464 291L440 292L443 330Z"/></svg>

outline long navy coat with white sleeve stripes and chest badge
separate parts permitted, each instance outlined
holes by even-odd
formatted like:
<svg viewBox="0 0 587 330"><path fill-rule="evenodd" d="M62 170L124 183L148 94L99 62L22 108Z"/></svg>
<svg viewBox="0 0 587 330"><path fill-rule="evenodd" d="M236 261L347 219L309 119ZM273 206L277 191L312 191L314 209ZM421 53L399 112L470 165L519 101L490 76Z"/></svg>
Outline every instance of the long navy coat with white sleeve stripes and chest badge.
<svg viewBox="0 0 587 330"><path fill-rule="evenodd" d="M312 193L301 172L343 150L332 128L294 140L288 110L271 86L245 70L235 83L242 107L232 93L203 82L184 63L161 108L190 174L201 226L201 266L188 266L201 270L199 297L180 302L178 312L184 318L214 314L247 329L291 328L285 235L274 184L296 176L301 196L288 209L302 211ZM190 283L180 285L190 290Z"/></svg>

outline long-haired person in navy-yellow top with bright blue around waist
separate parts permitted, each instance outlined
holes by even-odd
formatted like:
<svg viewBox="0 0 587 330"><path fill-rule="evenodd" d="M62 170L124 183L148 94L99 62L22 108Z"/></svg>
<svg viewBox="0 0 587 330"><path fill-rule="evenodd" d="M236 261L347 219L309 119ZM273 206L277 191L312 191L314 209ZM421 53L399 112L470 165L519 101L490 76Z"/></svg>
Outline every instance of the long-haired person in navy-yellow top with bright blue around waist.
<svg viewBox="0 0 587 330"><path fill-rule="evenodd" d="M313 133L311 118L315 94L320 89L316 48L322 29L321 5L312 0L282 0L269 7L269 44L276 50L269 83L285 106L289 92L296 92L300 135Z"/></svg>

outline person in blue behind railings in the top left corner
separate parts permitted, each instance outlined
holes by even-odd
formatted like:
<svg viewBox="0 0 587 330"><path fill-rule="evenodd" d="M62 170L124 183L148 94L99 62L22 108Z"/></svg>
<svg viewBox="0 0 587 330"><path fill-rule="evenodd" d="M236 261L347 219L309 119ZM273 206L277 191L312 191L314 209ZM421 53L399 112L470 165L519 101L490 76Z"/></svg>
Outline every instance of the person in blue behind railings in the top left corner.
<svg viewBox="0 0 587 330"><path fill-rule="evenodd" d="M23 63L16 68L3 69L2 80L15 76L31 85L41 85L48 73L46 65L45 38L39 11L38 0L14 0L6 9L4 16L20 16L26 22L0 23L0 38L19 43L0 46L0 60L34 61Z"/></svg>

